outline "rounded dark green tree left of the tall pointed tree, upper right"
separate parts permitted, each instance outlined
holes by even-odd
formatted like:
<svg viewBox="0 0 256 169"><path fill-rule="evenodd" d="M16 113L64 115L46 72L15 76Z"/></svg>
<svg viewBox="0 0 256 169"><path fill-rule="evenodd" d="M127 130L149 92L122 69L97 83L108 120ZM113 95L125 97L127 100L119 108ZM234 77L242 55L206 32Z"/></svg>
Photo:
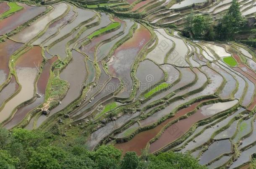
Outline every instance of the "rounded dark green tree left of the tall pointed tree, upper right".
<svg viewBox="0 0 256 169"><path fill-rule="evenodd" d="M196 15L193 18L192 32L195 38L203 38L206 32L207 22L203 15Z"/></svg>

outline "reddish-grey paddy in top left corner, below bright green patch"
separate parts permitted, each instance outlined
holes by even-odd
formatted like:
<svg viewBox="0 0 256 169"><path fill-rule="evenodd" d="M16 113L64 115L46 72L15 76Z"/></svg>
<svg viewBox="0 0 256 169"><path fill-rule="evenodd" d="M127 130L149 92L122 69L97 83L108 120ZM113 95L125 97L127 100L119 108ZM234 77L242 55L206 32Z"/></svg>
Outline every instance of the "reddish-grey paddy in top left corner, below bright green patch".
<svg viewBox="0 0 256 169"><path fill-rule="evenodd" d="M8 18L0 21L0 35L14 30L18 26L31 20L46 10L45 6L32 7L26 4L21 4L21 6L24 7L23 10L20 10L17 13L10 15Z"/></svg>

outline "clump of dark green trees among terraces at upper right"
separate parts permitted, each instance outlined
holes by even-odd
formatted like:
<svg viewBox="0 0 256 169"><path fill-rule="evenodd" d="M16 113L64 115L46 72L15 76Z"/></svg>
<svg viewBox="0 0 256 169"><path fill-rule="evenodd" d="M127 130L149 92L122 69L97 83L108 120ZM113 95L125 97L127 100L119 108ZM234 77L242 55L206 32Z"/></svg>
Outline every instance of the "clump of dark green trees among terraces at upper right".
<svg viewBox="0 0 256 169"><path fill-rule="evenodd" d="M196 39L232 40L246 25L237 0L232 0L227 13L217 23L212 22L211 18L210 15L194 15L191 11L186 19L186 30Z"/></svg>

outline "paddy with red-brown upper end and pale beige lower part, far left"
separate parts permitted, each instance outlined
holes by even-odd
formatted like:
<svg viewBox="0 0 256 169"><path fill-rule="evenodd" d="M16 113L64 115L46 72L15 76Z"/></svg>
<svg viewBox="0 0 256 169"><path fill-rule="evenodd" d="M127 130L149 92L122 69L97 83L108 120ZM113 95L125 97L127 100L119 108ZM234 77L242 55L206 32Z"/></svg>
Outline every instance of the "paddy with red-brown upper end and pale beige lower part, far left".
<svg viewBox="0 0 256 169"><path fill-rule="evenodd" d="M11 98L0 111L0 122L8 119L13 109L24 101L28 101L34 95L34 81L38 74L38 68L42 63L41 48L32 47L21 55L16 61L16 73L21 91Z"/></svg>

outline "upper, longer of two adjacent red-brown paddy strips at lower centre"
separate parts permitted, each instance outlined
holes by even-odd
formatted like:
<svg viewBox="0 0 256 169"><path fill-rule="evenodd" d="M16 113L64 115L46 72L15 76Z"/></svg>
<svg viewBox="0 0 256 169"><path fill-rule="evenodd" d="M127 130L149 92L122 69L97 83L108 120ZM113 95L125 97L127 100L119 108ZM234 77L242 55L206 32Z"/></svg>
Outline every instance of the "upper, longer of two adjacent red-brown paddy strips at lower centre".
<svg viewBox="0 0 256 169"><path fill-rule="evenodd" d="M187 114L190 111L193 111L196 108L196 106L205 101L209 100L200 101L192 104L190 107L183 108L180 111L177 111L174 117L167 119L163 123L159 124L157 127L137 134L136 136L133 137L133 139L131 139L128 142L115 144L115 147L122 150L123 154L125 154L127 151L135 151L138 155L141 155L141 150L146 147L146 144L151 139L153 139L166 124L179 118L180 116Z"/></svg>

